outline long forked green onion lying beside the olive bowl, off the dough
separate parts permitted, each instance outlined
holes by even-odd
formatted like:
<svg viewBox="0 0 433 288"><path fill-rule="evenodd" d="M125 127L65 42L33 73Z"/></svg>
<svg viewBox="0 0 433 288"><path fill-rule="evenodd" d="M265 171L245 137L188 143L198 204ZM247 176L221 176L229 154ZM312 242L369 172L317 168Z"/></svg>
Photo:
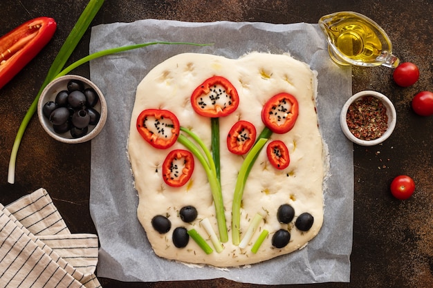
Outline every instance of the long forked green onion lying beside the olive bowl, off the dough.
<svg viewBox="0 0 433 288"><path fill-rule="evenodd" d="M55 57L53 64L51 64L50 69L48 70L48 73L46 75L46 79L44 80L44 83L42 84L41 88L39 89L39 92L37 93L37 96L33 100L33 103L30 105L30 108L28 108L28 111L26 115L24 116L24 119L22 120L17 135L15 137L14 145L12 146L12 152L10 153L10 160L9 160L9 170L8 170L8 182L10 184L15 183L15 164L17 161L17 153L19 149L19 144L21 144L21 139L24 135L24 132L26 131L26 128L28 126L28 123L30 122L30 119L33 117L37 110L37 102L39 101L39 97L42 94L42 91L44 88L50 83L50 81L53 81L53 79L66 75L67 73L71 72L71 70L77 68L78 66L91 61L93 59L110 55L122 51L142 48L146 46L156 45L156 44L185 44L185 45L194 45L194 46L208 46L210 44L195 44L195 43L189 43L189 42L166 42L166 41L156 41L156 42L149 42L149 43L143 43L143 44L135 44L135 45L129 45L129 46L123 46L118 48L111 48L107 50L102 50L99 52L95 52L91 55L88 55L78 61L75 61L70 66L64 68L64 64L68 60L68 58L71 56L73 50L75 50L75 47L77 46L80 39L82 39L82 36L84 35L84 32L86 32L87 28L89 28L89 25L93 18L95 17L96 13L100 10L100 7L102 6L102 3L104 3L104 0L91 0L87 4L86 8L84 8L84 11L82 12L82 15L77 20L77 23L75 23L75 26L71 30L71 33L66 38L62 48L60 48L59 53ZM62 70L64 68L64 70Z"/></svg>

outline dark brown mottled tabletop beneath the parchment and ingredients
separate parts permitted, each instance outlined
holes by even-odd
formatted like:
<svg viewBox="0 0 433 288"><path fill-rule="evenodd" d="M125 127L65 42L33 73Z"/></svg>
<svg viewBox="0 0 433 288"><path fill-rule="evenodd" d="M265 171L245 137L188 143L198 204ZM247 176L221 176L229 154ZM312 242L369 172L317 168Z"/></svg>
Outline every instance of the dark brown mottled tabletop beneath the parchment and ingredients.
<svg viewBox="0 0 433 288"><path fill-rule="evenodd" d="M48 68L87 0L2 0L0 35L39 16L53 17L52 41L21 73L0 90L0 202L8 204L43 187L73 233L96 233L89 213L91 143L67 145L50 138L33 117L21 142L15 184L7 183L10 151L23 119ZM352 10L382 26L401 61L418 65L414 86L400 88L385 67L353 68L353 93L377 90L389 96L398 113L394 134L385 143L353 146L355 168L351 282L293 287L433 287L433 116L415 115L410 102L421 90L433 90L433 3L394 1L253 1L253 0L107 0L92 26L138 19L180 21L262 21L317 23L331 12ZM90 30L71 61L89 53ZM89 66L75 74L89 77ZM406 201L392 198L391 180L407 174L416 192ZM259 287L225 279L188 282L122 283L100 278L103 287Z"/></svg>

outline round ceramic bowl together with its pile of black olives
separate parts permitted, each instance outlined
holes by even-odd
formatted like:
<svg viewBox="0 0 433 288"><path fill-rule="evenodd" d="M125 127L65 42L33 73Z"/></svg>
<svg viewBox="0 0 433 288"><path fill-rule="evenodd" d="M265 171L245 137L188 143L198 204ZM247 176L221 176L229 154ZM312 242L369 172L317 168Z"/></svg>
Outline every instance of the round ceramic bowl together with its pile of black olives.
<svg viewBox="0 0 433 288"><path fill-rule="evenodd" d="M107 102L92 81L65 75L51 81L37 104L42 127L55 140L87 142L100 133L107 120Z"/></svg>

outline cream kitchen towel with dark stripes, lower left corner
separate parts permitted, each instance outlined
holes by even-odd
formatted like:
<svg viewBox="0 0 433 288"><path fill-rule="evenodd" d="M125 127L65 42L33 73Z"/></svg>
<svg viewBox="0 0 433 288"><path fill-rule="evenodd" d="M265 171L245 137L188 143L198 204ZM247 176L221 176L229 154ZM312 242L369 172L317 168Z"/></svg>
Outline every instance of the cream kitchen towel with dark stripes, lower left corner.
<svg viewBox="0 0 433 288"><path fill-rule="evenodd" d="M0 204L0 287L101 287L98 237L72 234L45 189Z"/></svg>

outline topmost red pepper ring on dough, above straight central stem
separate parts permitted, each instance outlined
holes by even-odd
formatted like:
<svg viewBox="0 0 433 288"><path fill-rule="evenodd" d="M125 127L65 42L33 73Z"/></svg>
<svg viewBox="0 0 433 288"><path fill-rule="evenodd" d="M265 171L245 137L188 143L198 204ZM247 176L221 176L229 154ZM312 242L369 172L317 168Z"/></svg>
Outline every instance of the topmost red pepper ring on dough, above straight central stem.
<svg viewBox="0 0 433 288"><path fill-rule="evenodd" d="M236 88L221 76L206 79L191 96L194 111L205 117L227 116L239 106L239 95Z"/></svg>

